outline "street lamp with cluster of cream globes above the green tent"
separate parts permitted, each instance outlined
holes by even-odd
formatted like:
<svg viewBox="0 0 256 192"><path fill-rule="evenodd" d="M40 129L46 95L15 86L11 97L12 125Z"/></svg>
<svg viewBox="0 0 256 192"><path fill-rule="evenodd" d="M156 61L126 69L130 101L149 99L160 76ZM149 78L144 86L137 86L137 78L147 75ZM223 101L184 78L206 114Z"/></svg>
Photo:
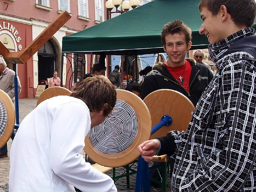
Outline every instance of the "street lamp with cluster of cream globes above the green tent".
<svg viewBox="0 0 256 192"><path fill-rule="evenodd" d="M112 13L122 14L124 12L127 12L131 7L132 7L132 9L136 8L138 6L138 4L139 4L139 0L130 0L130 1L127 1L127 0L125 0L125 1L122 1L122 0L108 0L105 5L106 5L106 7L108 9L108 12L109 12L109 19L111 19L111 14ZM123 10L118 10L118 7L120 5L122 6ZM114 7L116 7L116 11L111 12Z"/></svg>

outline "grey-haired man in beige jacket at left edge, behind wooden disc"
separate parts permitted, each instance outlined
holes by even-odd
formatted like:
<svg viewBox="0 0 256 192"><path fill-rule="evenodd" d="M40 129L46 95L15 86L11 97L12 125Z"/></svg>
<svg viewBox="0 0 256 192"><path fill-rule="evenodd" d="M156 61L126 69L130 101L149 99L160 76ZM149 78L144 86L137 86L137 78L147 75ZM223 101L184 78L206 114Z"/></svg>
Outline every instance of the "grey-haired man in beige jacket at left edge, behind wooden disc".
<svg viewBox="0 0 256 192"><path fill-rule="evenodd" d="M15 72L12 69L9 69L6 65L4 58L0 58L0 89L6 92L12 102L14 102L14 75ZM18 77L18 93L21 91L20 80ZM13 140L16 131L12 132L11 138ZM3 148L0 149L0 157L8 157L7 155L7 144L4 145Z"/></svg>

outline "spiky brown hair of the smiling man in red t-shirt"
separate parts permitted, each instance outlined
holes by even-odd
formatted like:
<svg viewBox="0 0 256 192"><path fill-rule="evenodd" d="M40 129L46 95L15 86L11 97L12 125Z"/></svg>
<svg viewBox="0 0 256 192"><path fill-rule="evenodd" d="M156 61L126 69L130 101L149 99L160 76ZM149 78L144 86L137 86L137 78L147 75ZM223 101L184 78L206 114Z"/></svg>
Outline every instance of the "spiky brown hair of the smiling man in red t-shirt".
<svg viewBox="0 0 256 192"><path fill-rule="evenodd" d="M172 22L168 22L164 25L164 28L162 29L161 33L161 41L162 44L165 46L165 36L169 34L175 34L180 33L184 34L186 37L186 42L188 45L188 42L192 39L192 32L191 29L181 20L174 20Z"/></svg>

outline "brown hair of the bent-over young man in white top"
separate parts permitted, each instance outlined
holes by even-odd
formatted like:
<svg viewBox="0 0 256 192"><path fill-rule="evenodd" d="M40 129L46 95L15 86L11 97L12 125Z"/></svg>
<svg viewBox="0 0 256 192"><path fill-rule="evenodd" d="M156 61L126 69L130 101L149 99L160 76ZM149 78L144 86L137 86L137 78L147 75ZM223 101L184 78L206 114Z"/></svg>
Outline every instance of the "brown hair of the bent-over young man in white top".
<svg viewBox="0 0 256 192"><path fill-rule="evenodd" d="M83 100L90 111L103 109L104 116L110 115L116 105L116 90L105 76L84 79L70 96ZM108 106L105 106L105 103L108 103Z"/></svg>

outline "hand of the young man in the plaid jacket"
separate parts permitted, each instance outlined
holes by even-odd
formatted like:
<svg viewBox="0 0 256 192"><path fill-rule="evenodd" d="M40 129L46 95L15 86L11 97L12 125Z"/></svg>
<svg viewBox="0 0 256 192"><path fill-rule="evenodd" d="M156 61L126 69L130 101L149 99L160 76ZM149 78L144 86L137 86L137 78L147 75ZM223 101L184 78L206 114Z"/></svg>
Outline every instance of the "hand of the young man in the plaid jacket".
<svg viewBox="0 0 256 192"><path fill-rule="evenodd" d="M157 150L160 147L160 141L157 139L147 140L138 146L138 150L142 158L149 162L152 161L152 156L156 155Z"/></svg>

